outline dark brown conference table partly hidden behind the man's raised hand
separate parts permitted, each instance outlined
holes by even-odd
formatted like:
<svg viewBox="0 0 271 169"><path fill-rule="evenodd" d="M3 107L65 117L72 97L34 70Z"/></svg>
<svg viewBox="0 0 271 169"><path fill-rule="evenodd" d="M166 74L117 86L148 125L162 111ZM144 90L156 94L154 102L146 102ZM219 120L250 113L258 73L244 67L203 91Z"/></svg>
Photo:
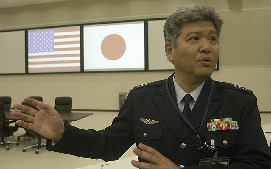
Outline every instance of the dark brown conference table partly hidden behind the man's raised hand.
<svg viewBox="0 0 271 169"><path fill-rule="evenodd" d="M15 110L18 111L18 110ZM6 115L6 119L8 120L20 120L20 118L17 118L13 115L11 115L12 111L6 111L4 110L4 113ZM19 111L20 112L20 111ZM77 121L80 120L81 118L85 118L89 115L93 115L93 113L79 113L79 112L59 112L60 117L62 118L63 121Z"/></svg>

